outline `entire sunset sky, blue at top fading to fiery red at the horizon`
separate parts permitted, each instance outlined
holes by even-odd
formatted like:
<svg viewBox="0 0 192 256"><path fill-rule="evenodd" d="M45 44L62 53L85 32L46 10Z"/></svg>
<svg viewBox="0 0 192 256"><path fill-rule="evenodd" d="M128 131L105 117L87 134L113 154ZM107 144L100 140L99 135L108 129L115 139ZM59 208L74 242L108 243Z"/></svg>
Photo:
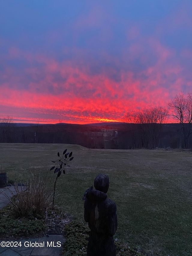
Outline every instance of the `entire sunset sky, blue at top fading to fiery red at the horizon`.
<svg viewBox="0 0 192 256"><path fill-rule="evenodd" d="M192 92L192 1L0 0L0 118L121 122Z"/></svg>

